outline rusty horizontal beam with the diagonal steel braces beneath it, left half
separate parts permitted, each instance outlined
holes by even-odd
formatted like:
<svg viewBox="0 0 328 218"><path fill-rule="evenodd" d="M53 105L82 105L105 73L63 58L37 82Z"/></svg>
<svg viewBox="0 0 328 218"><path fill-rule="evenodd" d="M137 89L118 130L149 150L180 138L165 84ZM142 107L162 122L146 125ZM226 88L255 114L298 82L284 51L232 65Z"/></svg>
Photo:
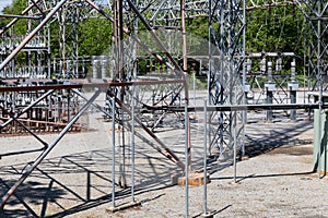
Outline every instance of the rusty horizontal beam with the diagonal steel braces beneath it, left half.
<svg viewBox="0 0 328 218"><path fill-rule="evenodd" d="M80 81L81 82L81 81ZM70 130L70 128L78 121L78 119L82 116L82 113L90 107L90 106L94 106L97 109L99 109L101 111L103 111L105 114L107 116L112 116L109 114L107 111L105 111L101 106L98 106L97 104L95 104L95 99L98 97L98 95L102 92L107 92L107 95L112 97L112 99L114 99L117 104L117 106L124 110L125 112L127 112L129 116L132 116L133 112L133 108L130 108L127 104L122 102L118 97L115 96L115 93L108 93L108 86L112 84L114 87L127 87L127 86L134 86L134 85L152 85L156 82L151 81L151 82L147 82L147 81L140 81L140 82L113 82L113 83L98 83L98 84L78 84L78 85L48 85L48 86L26 86L25 88L28 88L30 90L48 90L47 93L45 93L43 96L40 96L38 99L36 99L34 102L32 102L31 105L28 105L25 109L23 109L21 112L16 113L16 114L12 114L11 119L8 120L5 123L3 123L1 125L1 128L10 124L13 121L19 121L17 118L21 117L22 114L24 114L25 112L27 112L31 108L33 108L34 106L36 106L40 100L43 100L44 98L46 98L47 96L49 96L51 93L54 93L55 90L62 90L62 89L67 89L67 90L72 90L73 93L75 93L78 96L82 97L83 99L85 99L85 104L83 105L83 107L81 107L81 109L79 110L79 112L77 114L74 114L70 121L67 123L67 125L61 130L61 132L57 135L57 137L51 142L51 143L46 143L45 141L43 141L38 135L34 134L32 131L28 131L27 126L24 126L27 129L28 133L32 133L32 136L34 136L36 140L38 140L43 145L44 145L44 149L42 152L42 154L33 161L33 164L31 165L31 167L21 175L21 178L16 181L15 184L13 184L8 192L2 196L2 199L0 202L0 208L3 208L7 201L10 198L11 195L14 194L14 192L19 189L19 186L26 180L26 178L28 178L28 175L37 168L38 165L42 164L42 161L47 157L47 155L52 150L54 147L56 147L56 145L60 142L60 140L67 134L67 132ZM179 80L179 81L157 81L159 84L171 84L171 83L184 83L184 80ZM85 96L83 96L83 94L78 89L78 88L82 88L82 87L96 87L96 92L93 94L93 96L87 99ZM0 87L0 93L2 92L17 92L21 90L21 87ZM134 106L133 106L134 107ZM136 123L138 123L144 131L147 134L149 134L157 144L159 146L154 145L154 144L150 144L151 147L153 147L155 150L157 150L160 154L162 154L164 157L166 157L167 159L169 159L171 161L173 161L174 164L176 164L183 171L185 170L185 165L183 164L183 161L149 129L147 128L141 120L138 119L138 117L134 116L134 121ZM118 121L117 121L118 122ZM118 122L119 124L121 124L120 122ZM131 130L132 126L131 124L127 123L126 124L126 129L127 130ZM141 136L136 134L137 136ZM141 140L143 140L143 137L141 136Z"/></svg>

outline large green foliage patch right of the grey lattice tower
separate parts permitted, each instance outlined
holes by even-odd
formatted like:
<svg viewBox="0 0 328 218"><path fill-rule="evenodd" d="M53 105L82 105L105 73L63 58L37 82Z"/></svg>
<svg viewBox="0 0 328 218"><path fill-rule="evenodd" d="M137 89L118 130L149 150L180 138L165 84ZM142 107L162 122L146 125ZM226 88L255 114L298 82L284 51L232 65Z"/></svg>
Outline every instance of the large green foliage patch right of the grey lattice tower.
<svg viewBox="0 0 328 218"><path fill-rule="evenodd" d="M294 5L254 10L246 14L246 51L303 51L303 14Z"/></svg>

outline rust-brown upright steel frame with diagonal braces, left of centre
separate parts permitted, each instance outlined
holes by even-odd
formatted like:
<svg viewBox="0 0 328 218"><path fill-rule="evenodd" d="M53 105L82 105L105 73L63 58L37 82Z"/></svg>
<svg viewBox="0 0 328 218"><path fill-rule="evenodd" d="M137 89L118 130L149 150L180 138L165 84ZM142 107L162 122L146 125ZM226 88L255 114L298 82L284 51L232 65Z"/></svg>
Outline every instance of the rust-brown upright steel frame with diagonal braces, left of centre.
<svg viewBox="0 0 328 218"><path fill-rule="evenodd" d="M95 8L96 10L101 11L98 7L96 7L95 4L93 4L91 1L87 1L93 8ZM113 19L110 19L110 16L106 15L106 13L104 11L101 11L102 14L104 14L109 21L113 22L113 48L114 48L114 52L113 52L113 58L114 58L114 73L112 73L114 76L112 80L116 81L129 81L131 78L133 78L133 76L128 75L128 72L130 72L130 69L133 69L131 66L129 66L129 57L125 56L125 53L136 53L136 51L130 51L131 47L132 49L136 49L134 46L126 47L125 43L127 40L124 39L124 34L128 34L130 37L128 40L132 39L132 41L136 44L138 43L139 45L141 45L142 48L145 48L147 51L151 51L150 55L154 56L162 64L165 64L167 68L169 68L173 72L175 72L175 74L177 75L177 77L180 77L184 80L184 89L185 89L185 104L188 105L188 83L187 83L187 57L186 57L186 36L183 35L184 38L184 45L183 47L185 48L183 51L183 59L184 59L184 66L181 70L179 64L177 63L175 57L173 57L173 55L169 52L169 49L167 49L166 45L164 45L162 43L162 40L160 39L160 37L157 36L154 26L152 26L150 24L150 22L142 15L142 13L139 11L138 5L131 1L128 0L128 9L127 5L125 7L125 10L131 11L132 13L136 14L136 17L138 17L138 20L140 21L141 25L143 25L147 29L147 32L150 34L152 40L154 41L154 44L156 45L156 47L159 47L160 52L162 52L165 58L167 59L167 61L164 61L164 58L162 58L161 56L157 55L157 52L153 52L152 48L147 46L144 43L142 43L140 39L138 39L138 36L136 32L133 31L127 31L127 29L133 29L134 26L130 27L125 27L124 26L124 5L122 5L122 1L121 0L115 0L113 1ZM184 1L180 1L180 11L181 11L181 29L183 29L183 34L186 34L184 32L184 29L186 29L185 26L185 15L184 15ZM133 24L133 23L132 23ZM137 60L136 60L137 61ZM133 62L133 61L132 61ZM134 78L136 80L136 78ZM178 88L179 90L181 90L181 88ZM171 90L168 90L171 92ZM118 87L115 90L113 89L108 89L106 93L106 101L109 101L109 99L113 99L115 97L116 101L119 102L119 107L122 109L122 117L125 113L128 113L128 116L131 116L130 110L128 109L127 105L129 105L131 101L133 100L133 97L128 96L129 93L127 92L127 89L125 89L125 87ZM164 94L164 96L167 96L166 94ZM174 97L174 99L176 100L177 98ZM165 100L165 98L163 98L163 100ZM142 102L139 102L142 104ZM110 108L110 105L109 105ZM188 170L191 170L191 165L190 165L190 160L191 160L191 145L190 145L190 121L189 121L189 116L187 116L188 120L186 121L186 123L188 123L188 125L186 126L188 130L188 159L189 159L189 166L188 166ZM160 120L162 120L163 117L160 117ZM160 121L159 120L159 121ZM142 122L139 118L134 117L134 121L142 126L142 129L147 132L147 134L149 134L152 138L154 138L157 144L160 144L160 147L164 148L164 153L162 152L162 149L160 147L156 147L156 150L161 154L163 154L164 156L166 156L168 159L173 160L174 162L177 164L177 166L179 166L183 170L185 170L185 166L184 164L168 149L168 147L166 145L164 145L164 143L162 143L160 141L160 138L156 137L156 135L150 131ZM156 122L155 122L156 124ZM121 131L121 138L122 138L122 162L120 164L120 183L122 183L122 186L125 185L125 129L127 125L124 118L121 118L120 121L120 125L122 126L122 131ZM155 126L153 126L155 128Z"/></svg>

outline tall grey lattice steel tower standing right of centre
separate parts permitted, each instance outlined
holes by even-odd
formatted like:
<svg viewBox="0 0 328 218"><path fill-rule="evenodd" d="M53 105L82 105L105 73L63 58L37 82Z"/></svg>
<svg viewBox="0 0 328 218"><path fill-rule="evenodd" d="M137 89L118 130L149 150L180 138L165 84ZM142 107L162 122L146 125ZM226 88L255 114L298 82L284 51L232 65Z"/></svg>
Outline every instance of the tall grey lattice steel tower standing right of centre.
<svg viewBox="0 0 328 218"><path fill-rule="evenodd" d="M211 2L211 1L210 1ZM212 1L209 16L209 43L215 49L210 49L209 59L209 105L241 105L244 102L245 83L245 1L221 0ZM213 24L219 23L214 29ZM211 48L211 46L209 46ZM212 58L219 56L220 58ZM242 75L242 77L241 77ZM212 112L210 120L210 153L218 153L223 159L233 157L234 146L243 147L244 125L237 125L236 119L245 122L245 113L236 111ZM218 123L218 124L216 124ZM235 135L237 134L237 135ZM238 138L238 141L234 140ZM237 143L237 145L234 145ZM219 157L219 158L220 158Z"/></svg>

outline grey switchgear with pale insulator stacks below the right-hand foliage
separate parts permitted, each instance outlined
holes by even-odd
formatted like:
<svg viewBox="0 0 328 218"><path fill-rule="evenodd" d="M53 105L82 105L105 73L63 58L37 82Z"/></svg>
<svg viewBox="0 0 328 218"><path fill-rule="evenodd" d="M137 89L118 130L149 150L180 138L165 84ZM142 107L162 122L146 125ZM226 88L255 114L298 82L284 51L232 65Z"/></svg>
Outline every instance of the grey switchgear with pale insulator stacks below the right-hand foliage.
<svg viewBox="0 0 328 218"><path fill-rule="evenodd" d="M254 65L259 65L254 71ZM286 71L286 68L290 70ZM261 104L262 94L266 104L296 104L296 90L298 82L295 76L296 62L294 52L255 52L246 56L246 76L248 78L246 98L253 99L253 104ZM285 74L282 71L288 72ZM263 87L260 80L265 80ZM253 90L259 88L260 92ZM257 96L255 96L257 94ZM248 95L248 97L247 97ZM251 97L249 97L251 96ZM295 111L290 112L291 120L295 120ZM272 122L273 111L267 110L266 120Z"/></svg>

